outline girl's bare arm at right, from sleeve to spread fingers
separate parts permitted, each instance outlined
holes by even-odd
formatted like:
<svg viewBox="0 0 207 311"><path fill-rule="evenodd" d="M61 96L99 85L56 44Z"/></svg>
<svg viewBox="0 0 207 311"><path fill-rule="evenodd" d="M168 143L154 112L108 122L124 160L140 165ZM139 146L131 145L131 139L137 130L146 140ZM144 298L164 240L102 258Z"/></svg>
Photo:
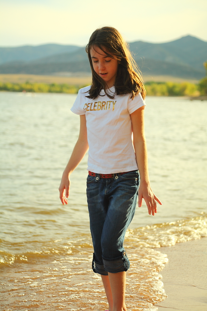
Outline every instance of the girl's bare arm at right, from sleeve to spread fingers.
<svg viewBox="0 0 207 311"><path fill-rule="evenodd" d="M133 145L140 174L140 186L138 190L138 206L142 206L142 198L145 200L149 215L154 216L157 212L156 201L161 205L160 200L155 196L151 187L148 174L147 148L144 133L144 106L130 114L133 130Z"/></svg>

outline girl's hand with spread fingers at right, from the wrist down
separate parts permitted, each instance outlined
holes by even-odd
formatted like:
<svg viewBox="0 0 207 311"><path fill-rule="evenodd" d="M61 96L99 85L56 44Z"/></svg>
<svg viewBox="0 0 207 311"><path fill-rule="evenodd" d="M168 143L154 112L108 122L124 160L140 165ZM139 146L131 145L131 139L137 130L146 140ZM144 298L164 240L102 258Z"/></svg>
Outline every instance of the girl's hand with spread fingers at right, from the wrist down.
<svg viewBox="0 0 207 311"><path fill-rule="evenodd" d="M155 216L155 213L157 212L157 203L156 201L162 205L158 197L155 196L153 193L151 187L147 183L140 183L139 190L138 190L138 206L142 206L142 198L146 202L146 206L148 208L149 215Z"/></svg>

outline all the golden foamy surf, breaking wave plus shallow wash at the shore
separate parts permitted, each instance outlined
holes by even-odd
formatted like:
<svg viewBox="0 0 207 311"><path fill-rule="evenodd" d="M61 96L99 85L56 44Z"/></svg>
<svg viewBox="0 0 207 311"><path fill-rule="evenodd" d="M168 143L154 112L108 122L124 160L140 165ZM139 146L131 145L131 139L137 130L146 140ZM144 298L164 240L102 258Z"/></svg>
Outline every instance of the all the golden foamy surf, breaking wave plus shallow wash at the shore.
<svg viewBox="0 0 207 311"><path fill-rule="evenodd" d="M207 215L204 213L192 219L127 230L125 249L130 260L126 286L128 308L155 311L154 304L166 298L159 272L168 258L153 248L203 236L207 236ZM92 252L89 234L65 241L56 240L32 253L2 252L1 293L10 295L3 307L9 305L5 310L44 310L47 305L51 311L57 308L107 309L101 277L91 269ZM10 275L16 275L16 280Z"/></svg>

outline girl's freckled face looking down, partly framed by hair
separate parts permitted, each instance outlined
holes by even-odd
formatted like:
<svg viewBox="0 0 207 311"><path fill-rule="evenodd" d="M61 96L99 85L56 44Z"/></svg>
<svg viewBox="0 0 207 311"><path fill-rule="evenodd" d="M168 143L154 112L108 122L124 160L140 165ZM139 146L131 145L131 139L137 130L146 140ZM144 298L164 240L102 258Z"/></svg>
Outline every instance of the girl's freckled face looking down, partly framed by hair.
<svg viewBox="0 0 207 311"><path fill-rule="evenodd" d="M93 69L107 84L108 88L114 86L116 73L118 69L118 60L107 56L101 49L91 48L90 54L93 63Z"/></svg>

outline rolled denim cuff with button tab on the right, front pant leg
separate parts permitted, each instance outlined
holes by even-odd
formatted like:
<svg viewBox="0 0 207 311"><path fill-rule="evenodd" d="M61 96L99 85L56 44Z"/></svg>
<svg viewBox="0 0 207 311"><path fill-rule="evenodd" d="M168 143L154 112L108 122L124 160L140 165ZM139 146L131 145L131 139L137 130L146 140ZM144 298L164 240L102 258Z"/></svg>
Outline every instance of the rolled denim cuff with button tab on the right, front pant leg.
<svg viewBox="0 0 207 311"><path fill-rule="evenodd" d="M126 254L126 251L123 250L122 256L107 259L103 258L104 269L110 273L118 273L127 271L130 267L130 263Z"/></svg>

